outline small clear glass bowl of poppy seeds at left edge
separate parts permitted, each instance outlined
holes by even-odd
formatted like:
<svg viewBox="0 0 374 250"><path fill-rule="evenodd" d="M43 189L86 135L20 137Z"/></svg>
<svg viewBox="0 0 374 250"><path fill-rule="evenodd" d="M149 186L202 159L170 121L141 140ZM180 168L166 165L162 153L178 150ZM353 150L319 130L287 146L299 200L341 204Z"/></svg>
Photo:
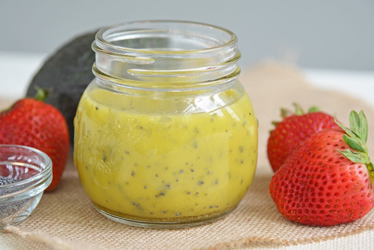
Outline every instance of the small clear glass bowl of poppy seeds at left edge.
<svg viewBox="0 0 374 250"><path fill-rule="evenodd" d="M46 153L33 147L3 144L0 145L0 178L2 229L18 224L35 209L52 182L52 161ZM5 183L4 179L15 182Z"/></svg>

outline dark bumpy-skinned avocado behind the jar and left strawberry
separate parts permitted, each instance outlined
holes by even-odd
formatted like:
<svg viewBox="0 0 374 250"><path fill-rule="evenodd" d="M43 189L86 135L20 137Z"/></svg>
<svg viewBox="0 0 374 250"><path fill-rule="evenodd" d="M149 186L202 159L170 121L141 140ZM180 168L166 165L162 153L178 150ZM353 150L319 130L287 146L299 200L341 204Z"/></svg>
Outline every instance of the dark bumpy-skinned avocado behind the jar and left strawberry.
<svg viewBox="0 0 374 250"><path fill-rule="evenodd" d="M95 52L91 44L96 32L76 37L58 49L36 73L26 93L27 97L34 97L35 86L51 91L45 102L55 106L65 116L71 144L74 142L73 119L80 97L94 78L92 64L95 62Z"/></svg>

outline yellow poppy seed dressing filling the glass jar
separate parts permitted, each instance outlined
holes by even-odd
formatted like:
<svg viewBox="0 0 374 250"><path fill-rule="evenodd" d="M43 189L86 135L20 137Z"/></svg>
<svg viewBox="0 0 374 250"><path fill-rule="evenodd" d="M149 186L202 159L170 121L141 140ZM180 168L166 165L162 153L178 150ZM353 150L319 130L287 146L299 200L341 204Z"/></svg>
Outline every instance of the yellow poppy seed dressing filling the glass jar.
<svg viewBox="0 0 374 250"><path fill-rule="evenodd" d="M74 163L93 204L119 217L155 222L233 210L257 163L257 119L248 96L236 100L235 93L181 103L158 99L157 92L134 99L86 90L74 120ZM219 100L223 104L212 107ZM197 102L202 112L196 113Z"/></svg>

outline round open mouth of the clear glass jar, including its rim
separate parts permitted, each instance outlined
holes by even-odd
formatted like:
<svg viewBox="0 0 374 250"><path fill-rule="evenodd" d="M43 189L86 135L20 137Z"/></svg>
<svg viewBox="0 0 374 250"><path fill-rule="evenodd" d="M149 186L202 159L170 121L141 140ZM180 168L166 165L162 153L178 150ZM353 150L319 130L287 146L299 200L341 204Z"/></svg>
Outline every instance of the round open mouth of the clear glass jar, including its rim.
<svg viewBox="0 0 374 250"><path fill-rule="evenodd" d="M135 21L102 28L98 46L134 54L193 54L224 50L237 43L230 30L215 25L172 20Z"/></svg>

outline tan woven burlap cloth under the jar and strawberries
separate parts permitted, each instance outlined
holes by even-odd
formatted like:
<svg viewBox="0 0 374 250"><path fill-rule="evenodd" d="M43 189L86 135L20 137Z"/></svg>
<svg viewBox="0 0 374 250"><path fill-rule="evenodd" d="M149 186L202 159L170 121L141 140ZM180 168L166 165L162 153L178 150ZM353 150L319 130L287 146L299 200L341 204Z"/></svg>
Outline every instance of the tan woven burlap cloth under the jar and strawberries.
<svg viewBox="0 0 374 250"><path fill-rule="evenodd" d="M70 156L59 189L45 193L21 224L0 232L0 249L310 249L321 242L325 247L337 246L331 243L334 241L340 242L340 248L372 249L374 210L353 223L332 227L302 226L283 219L268 192L272 171L266 142L270 122L280 118L279 107L292 109L293 102L305 109L317 105L346 125L350 110L363 109L369 122L368 147L374 158L374 107L339 92L315 89L301 71L289 65L260 63L243 71L240 80L260 124L258 166L247 195L227 217L209 225L175 230L143 229L110 221L91 206Z"/></svg>

